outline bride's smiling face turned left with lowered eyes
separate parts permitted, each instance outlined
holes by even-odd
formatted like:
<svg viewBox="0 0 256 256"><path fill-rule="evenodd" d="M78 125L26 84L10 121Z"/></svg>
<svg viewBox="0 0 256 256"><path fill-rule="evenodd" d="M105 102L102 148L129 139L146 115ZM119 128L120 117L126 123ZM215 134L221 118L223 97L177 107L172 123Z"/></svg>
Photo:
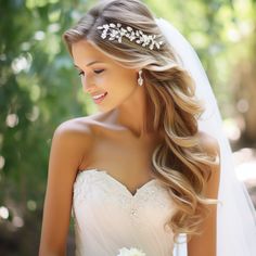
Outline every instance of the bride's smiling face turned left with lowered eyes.
<svg viewBox="0 0 256 256"><path fill-rule="evenodd" d="M105 94L93 100L102 111L117 107L138 87L138 71L124 68L86 40L73 43L72 54L84 91L91 97Z"/></svg>

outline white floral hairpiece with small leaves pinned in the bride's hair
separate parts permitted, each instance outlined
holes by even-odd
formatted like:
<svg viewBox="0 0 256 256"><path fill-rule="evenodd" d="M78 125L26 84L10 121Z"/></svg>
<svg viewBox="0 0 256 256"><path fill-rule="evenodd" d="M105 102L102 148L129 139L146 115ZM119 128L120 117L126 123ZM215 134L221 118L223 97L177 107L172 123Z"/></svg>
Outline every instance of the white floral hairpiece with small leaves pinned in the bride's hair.
<svg viewBox="0 0 256 256"><path fill-rule="evenodd" d="M103 39L106 38L108 35L108 40L115 40L117 39L118 42L121 42L123 36L130 39L130 41L133 41L136 39L137 43L142 43L142 47L149 47L150 50L154 49L154 46L156 46L157 49L161 48L161 44L163 44L163 41L157 42L155 40L156 35L145 35L141 30L133 30L133 28L127 26L126 28L121 27L120 23L114 24L104 24L102 26L98 26L98 29L103 29L101 37ZM150 44L151 43L151 44ZM149 46L150 44L150 46Z"/></svg>

